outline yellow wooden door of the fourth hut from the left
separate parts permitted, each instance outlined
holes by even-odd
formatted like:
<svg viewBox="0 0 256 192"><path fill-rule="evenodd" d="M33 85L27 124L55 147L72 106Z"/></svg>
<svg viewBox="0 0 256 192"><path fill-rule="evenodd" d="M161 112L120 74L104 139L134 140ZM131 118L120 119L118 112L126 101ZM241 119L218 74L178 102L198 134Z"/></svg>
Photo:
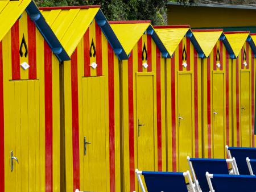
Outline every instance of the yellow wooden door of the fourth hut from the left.
<svg viewBox="0 0 256 192"><path fill-rule="evenodd" d="M193 155L192 120L192 73L179 72L177 75L177 128L179 172L189 169L187 156Z"/></svg>

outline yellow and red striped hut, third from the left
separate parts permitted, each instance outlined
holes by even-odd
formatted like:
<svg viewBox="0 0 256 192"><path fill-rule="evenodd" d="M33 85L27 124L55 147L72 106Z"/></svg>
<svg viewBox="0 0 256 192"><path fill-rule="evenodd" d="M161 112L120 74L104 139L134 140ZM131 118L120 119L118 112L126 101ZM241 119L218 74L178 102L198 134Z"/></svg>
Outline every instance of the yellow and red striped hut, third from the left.
<svg viewBox="0 0 256 192"><path fill-rule="evenodd" d="M129 60L120 64L122 190L138 190L134 170L166 170L164 57L150 21L110 22Z"/></svg>

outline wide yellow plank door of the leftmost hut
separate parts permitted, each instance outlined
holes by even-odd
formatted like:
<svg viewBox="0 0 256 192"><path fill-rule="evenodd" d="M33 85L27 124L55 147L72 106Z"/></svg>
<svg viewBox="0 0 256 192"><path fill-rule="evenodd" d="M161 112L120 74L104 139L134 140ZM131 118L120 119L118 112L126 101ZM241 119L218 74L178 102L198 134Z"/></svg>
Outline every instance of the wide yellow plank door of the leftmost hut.
<svg viewBox="0 0 256 192"><path fill-rule="evenodd" d="M40 190L39 81L10 81L5 124L6 192Z"/></svg>

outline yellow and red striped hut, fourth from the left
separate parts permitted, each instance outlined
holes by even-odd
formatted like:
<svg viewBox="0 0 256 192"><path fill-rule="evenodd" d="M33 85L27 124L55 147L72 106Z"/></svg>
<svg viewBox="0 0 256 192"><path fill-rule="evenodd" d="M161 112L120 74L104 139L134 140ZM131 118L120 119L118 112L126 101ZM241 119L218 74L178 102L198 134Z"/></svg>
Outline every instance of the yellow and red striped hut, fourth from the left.
<svg viewBox="0 0 256 192"><path fill-rule="evenodd" d="M154 27L166 60L167 170L188 170L187 156L201 157L201 62L204 53L189 26Z"/></svg>

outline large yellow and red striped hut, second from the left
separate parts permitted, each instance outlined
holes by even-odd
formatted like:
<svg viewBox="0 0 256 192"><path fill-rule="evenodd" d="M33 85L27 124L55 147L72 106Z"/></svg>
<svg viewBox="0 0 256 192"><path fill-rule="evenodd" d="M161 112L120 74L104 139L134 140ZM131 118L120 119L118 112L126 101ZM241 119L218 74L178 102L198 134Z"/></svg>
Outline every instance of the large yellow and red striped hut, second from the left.
<svg viewBox="0 0 256 192"><path fill-rule="evenodd" d="M61 65L66 191L121 191L119 61L100 6L40 9L71 61Z"/></svg>

